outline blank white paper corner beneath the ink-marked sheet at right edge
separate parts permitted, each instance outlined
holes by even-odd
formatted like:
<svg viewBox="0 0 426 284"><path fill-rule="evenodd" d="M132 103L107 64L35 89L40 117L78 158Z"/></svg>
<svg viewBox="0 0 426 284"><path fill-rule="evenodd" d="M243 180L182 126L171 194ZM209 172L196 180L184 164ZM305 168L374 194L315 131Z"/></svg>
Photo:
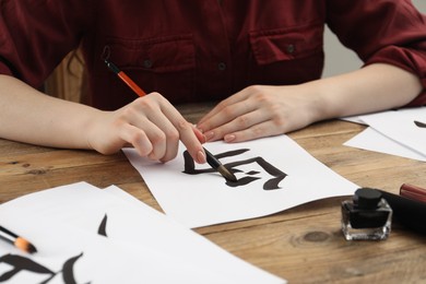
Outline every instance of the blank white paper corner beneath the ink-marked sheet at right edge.
<svg viewBox="0 0 426 284"><path fill-rule="evenodd" d="M347 140L344 145L426 162L426 156L384 137L370 127Z"/></svg>

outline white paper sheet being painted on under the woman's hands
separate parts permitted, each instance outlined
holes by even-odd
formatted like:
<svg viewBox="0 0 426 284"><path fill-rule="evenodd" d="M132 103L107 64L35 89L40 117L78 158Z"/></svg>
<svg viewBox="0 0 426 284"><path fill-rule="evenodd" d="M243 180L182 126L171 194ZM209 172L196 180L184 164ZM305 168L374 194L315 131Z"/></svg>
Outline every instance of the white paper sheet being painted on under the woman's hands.
<svg viewBox="0 0 426 284"><path fill-rule="evenodd" d="M245 186L230 187L218 173L185 174L182 145L177 158L166 164L141 158L133 149L123 149L123 152L166 214L188 227L260 217L318 199L351 196L357 188L313 158L287 135L235 144L218 141L208 143L205 147L216 156L229 151L248 150L238 155L221 157L220 161L224 165L240 163L233 166L233 169L241 170L235 173L238 180L244 177L259 179ZM244 161L249 162L245 164ZM210 170L206 164L196 164L196 168ZM277 189L263 189L265 181L276 175L267 173L265 168L285 173Z"/></svg>

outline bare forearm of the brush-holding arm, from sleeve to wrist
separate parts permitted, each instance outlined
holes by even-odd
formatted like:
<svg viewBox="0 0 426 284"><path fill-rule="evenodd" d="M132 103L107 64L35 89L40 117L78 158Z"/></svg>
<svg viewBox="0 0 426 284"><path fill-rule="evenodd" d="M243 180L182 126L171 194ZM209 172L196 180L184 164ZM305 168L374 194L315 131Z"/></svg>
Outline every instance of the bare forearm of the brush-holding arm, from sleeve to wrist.
<svg viewBox="0 0 426 284"><path fill-rule="evenodd" d="M1 138L46 146L90 149L84 131L97 113L0 75Z"/></svg>

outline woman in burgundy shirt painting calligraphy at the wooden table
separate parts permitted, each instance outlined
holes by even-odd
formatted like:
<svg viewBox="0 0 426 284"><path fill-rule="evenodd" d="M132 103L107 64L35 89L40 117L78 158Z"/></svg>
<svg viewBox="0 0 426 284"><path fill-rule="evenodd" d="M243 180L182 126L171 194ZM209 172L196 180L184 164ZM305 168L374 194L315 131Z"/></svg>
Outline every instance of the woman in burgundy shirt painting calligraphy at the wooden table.
<svg viewBox="0 0 426 284"><path fill-rule="evenodd" d="M426 19L410 0L0 0L0 137L167 162L179 140L276 135L426 102ZM324 24L365 61L320 79ZM37 91L81 46L91 106ZM104 64L128 73L134 94ZM173 104L222 100L194 129ZM204 137L201 134L203 132Z"/></svg>

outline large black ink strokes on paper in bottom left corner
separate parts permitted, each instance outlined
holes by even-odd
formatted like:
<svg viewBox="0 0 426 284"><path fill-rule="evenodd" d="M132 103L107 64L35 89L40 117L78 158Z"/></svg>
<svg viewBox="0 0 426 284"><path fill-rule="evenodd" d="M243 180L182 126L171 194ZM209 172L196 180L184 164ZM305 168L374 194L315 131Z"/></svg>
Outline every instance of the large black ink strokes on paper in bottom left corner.
<svg viewBox="0 0 426 284"><path fill-rule="evenodd" d="M11 265L12 269L8 272L4 272L2 275L0 275L0 282L5 282L8 280L11 280L21 271L28 271L37 274L48 275L48 277L45 281L43 281L40 284L49 283L55 276L59 274L62 274L62 280L64 284L76 284L74 277L74 264L82 256L83 252L80 253L79 256L70 258L63 263L62 270L58 272L54 272L48 268L31 260L29 258L8 253L0 257L0 263L7 263Z"/></svg>

